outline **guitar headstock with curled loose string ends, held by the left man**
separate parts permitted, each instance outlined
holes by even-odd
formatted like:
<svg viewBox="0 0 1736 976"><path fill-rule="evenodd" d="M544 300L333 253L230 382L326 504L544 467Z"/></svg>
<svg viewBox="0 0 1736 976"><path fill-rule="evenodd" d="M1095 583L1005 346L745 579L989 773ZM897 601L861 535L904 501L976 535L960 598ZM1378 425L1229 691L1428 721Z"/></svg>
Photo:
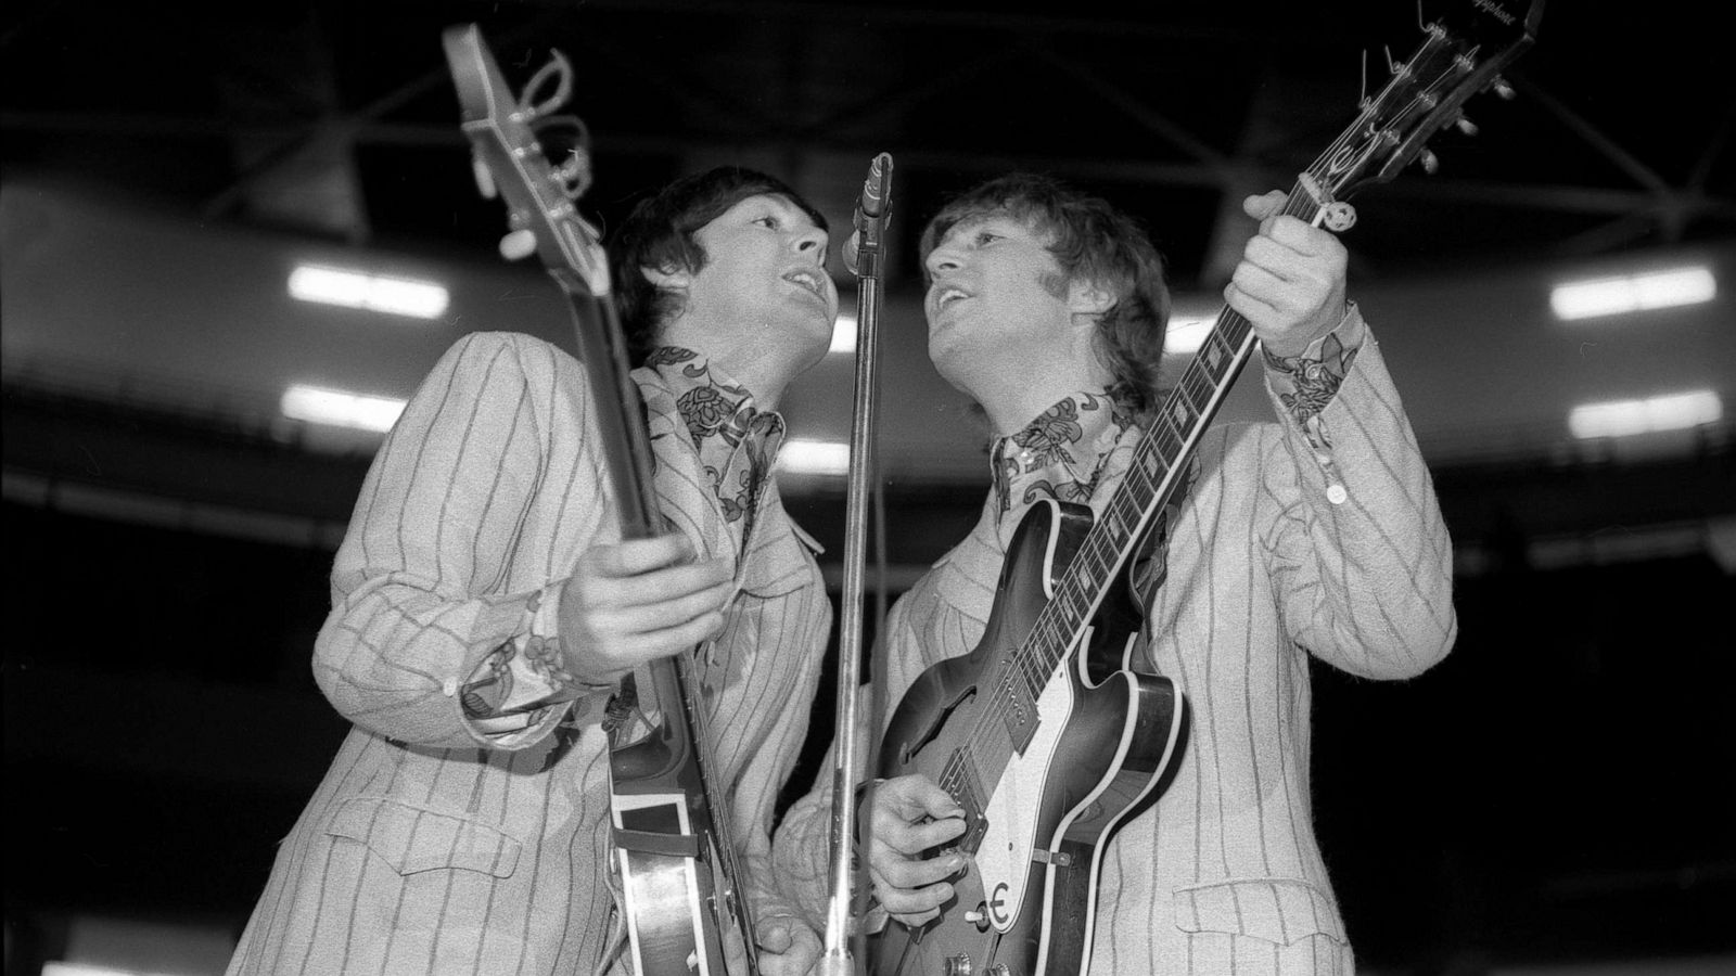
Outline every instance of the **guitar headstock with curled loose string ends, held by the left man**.
<svg viewBox="0 0 1736 976"><path fill-rule="evenodd" d="M595 297L608 295L608 259L597 229L580 217L576 207L590 188L585 129L575 116L552 115L571 92L573 69L566 57L554 52L554 59L524 85L523 97L514 97L476 24L446 28L441 42L458 89L462 129L470 137L483 196L498 195L505 200L507 224L514 236L533 236L538 257L557 281ZM538 101L550 83L556 90ZM552 125L564 125L578 134L576 146L561 163L549 160L538 139L538 132ZM524 254L528 252L526 247Z"/></svg>

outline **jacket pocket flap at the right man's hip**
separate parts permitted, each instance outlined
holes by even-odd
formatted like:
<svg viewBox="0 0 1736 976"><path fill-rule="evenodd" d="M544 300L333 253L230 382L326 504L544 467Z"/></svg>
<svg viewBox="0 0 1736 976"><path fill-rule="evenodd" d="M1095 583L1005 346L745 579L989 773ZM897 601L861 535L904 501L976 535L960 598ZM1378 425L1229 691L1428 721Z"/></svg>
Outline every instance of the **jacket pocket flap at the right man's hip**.
<svg viewBox="0 0 1736 976"><path fill-rule="evenodd" d="M1177 887L1175 926L1184 933L1231 933L1290 945L1307 936L1345 941L1332 896L1290 877L1222 880Z"/></svg>

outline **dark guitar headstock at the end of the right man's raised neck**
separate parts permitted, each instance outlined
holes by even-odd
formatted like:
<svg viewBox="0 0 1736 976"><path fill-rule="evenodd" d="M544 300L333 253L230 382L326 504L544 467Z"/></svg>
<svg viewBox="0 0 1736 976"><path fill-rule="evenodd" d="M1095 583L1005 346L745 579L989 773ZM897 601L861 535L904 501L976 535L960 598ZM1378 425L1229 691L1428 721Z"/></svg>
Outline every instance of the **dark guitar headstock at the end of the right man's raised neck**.
<svg viewBox="0 0 1736 976"><path fill-rule="evenodd" d="M1472 96L1495 89L1510 97L1500 73L1531 47L1542 17L1543 0L1453 0L1309 174L1338 200L1396 177L1425 156L1436 132L1463 118Z"/></svg>

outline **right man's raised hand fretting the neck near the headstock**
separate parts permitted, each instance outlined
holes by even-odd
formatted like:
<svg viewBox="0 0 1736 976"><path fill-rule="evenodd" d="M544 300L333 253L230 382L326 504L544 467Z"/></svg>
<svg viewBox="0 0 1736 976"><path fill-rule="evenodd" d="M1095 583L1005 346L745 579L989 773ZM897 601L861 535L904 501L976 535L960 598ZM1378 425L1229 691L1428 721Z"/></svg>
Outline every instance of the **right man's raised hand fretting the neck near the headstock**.
<svg viewBox="0 0 1736 976"><path fill-rule="evenodd" d="M1224 287L1224 302L1253 326L1279 359L1302 354L1332 332L1345 313L1347 254L1332 231L1286 215L1290 196L1271 191L1241 201L1260 222Z"/></svg>

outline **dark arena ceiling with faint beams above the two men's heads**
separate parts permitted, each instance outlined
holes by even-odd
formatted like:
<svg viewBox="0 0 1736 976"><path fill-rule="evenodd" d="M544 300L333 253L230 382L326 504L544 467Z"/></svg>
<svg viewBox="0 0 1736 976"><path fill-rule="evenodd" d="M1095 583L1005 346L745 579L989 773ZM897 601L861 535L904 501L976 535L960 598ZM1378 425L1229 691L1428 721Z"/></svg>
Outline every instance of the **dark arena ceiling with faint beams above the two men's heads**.
<svg viewBox="0 0 1736 976"><path fill-rule="evenodd" d="M1512 3L1510 3L1512 5ZM1463 3L1472 7L1472 3ZM1359 201L1352 274L1736 236L1733 87L1705 7L1550 3L1443 134ZM1109 195L1179 285L1217 287L1240 195L1288 188L1448 3L712 0L43 3L5 10L7 177L66 177L241 222L488 255L439 33L481 24L521 85L573 61L608 222L712 162L788 175L847 219L898 162L894 269L948 191L1009 168ZM1366 80L1364 80L1366 75ZM896 283L892 287L898 287Z"/></svg>

